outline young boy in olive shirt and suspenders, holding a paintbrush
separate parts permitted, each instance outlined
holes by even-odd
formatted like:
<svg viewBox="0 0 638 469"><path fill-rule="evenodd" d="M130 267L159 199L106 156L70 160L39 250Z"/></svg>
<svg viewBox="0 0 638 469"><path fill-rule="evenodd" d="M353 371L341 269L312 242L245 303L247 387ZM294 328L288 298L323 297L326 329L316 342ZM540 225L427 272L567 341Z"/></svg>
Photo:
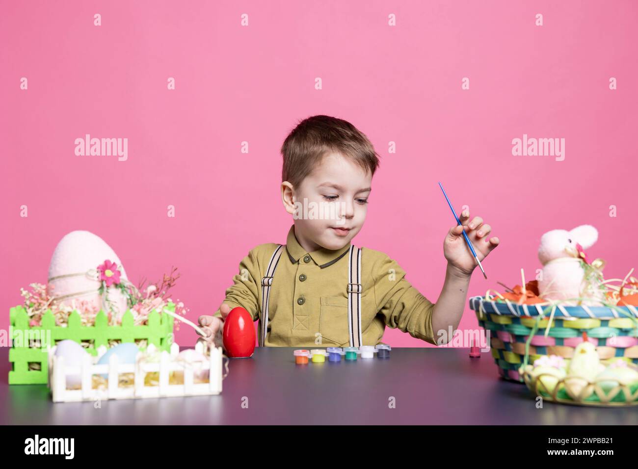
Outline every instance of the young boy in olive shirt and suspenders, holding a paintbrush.
<svg viewBox="0 0 638 469"><path fill-rule="evenodd" d="M432 344L449 342L475 268L462 232L482 260L499 243L487 238L491 227L479 216L470 221L468 211L459 215L463 226L450 228L443 241L445 283L433 304L388 255L352 245L379 164L366 135L343 119L315 115L288 135L281 153L281 200L294 219L286 244L251 249L218 311L200 316L208 334L200 340L222 346L223 320L242 306L260 321L265 346L377 345L386 326Z"/></svg>

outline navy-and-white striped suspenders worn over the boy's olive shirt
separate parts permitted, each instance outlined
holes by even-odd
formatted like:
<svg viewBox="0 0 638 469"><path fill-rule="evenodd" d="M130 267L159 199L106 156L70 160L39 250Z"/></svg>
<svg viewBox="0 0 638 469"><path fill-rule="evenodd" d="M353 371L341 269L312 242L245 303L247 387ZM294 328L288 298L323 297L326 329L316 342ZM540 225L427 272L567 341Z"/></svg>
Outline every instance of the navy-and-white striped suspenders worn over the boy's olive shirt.
<svg viewBox="0 0 638 469"><path fill-rule="evenodd" d="M279 244L272 253L266 276L262 278L262 319L259 327L259 345L264 346L266 343L266 332L268 331L268 306L271 296L272 278L275 274L279 258L285 247ZM362 345L361 339L361 293L363 287L361 285L361 249L350 246L348 255L348 337L350 338L350 346L359 347Z"/></svg>

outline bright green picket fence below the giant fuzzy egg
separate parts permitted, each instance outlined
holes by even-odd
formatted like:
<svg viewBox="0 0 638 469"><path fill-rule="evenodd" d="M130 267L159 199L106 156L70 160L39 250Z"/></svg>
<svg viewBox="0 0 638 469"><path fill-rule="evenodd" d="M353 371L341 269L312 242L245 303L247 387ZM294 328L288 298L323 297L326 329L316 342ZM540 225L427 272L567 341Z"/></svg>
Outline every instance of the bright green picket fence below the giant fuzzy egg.
<svg viewBox="0 0 638 469"><path fill-rule="evenodd" d="M169 302L167 309L174 312L175 304ZM104 345L108 348L108 341L117 340L135 342L145 339L147 345L153 344L159 350L170 351L173 343L173 316L160 315L153 310L149 313L147 324L133 325L133 314L126 311L122 316L121 325L108 325L108 318L104 311L100 311L95 318L95 325L81 325L80 313L73 311L69 316L66 327L56 325L51 311L42 316L42 324L38 327L29 326L29 316L22 306L16 306L9 311L9 384L46 384L48 377L47 345L54 346L64 339L89 342L91 346L85 350L91 355L97 355L98 348ZM33 346L33 339L42 339L40 346ZM31 346L30 346L31 345ZM40 363L40 369L29 369L29 363Z"/></svg>

